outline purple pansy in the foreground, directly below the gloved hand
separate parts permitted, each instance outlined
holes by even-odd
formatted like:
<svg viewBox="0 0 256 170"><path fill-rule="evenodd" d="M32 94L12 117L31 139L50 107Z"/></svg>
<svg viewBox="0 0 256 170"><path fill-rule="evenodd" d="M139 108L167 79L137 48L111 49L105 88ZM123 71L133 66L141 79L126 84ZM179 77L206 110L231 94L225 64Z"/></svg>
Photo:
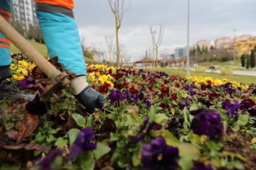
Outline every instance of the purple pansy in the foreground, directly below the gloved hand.
<svg viewBox="0 0 256 170"><path fill-rule="evenodd" d="M91 143L92 139L94 139L94 131L91 130L91 128L81 129L78 137L72 144L71 152L69 153L68 157L73 158L86 150L95 150L97 145Z"/></svg>

